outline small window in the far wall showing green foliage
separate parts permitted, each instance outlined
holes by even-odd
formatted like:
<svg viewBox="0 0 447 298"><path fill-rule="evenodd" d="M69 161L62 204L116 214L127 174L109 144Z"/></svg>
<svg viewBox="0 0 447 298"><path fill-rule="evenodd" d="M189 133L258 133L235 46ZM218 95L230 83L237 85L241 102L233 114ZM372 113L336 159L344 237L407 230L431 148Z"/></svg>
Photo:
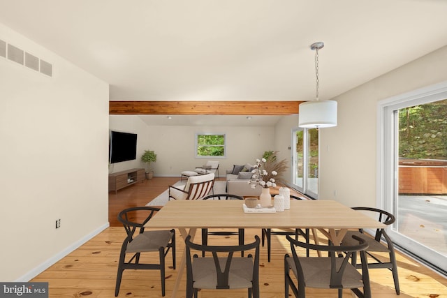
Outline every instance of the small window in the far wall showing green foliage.
<svg viewBox="0 0 447 298"><path fill-rule="evenodd" d="M225 157L225 134L197 133L196 157Z"/></svg>

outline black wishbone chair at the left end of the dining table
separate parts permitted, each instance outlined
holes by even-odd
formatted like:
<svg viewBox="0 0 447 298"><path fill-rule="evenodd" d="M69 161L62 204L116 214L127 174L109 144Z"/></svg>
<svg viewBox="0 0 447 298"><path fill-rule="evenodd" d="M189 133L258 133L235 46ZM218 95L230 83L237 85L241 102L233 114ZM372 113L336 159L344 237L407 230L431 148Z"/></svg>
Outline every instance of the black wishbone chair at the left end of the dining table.
<svg viewBox="0 0 447 298"><path fill-rule="evenodd" d="M159 269L161 295L165 295L165 257L169 250L173 254L173 268L175 269L175 230L145 231L145 224L159 210L159 208L144 206L132 207L119 212L118 220L124 225L127 237L123 241L119 255L115 297L119 293L124 269ZM154 252L159 253L159 264L140 263L141 253ZM132 254L132 257L126 261L127 254Z"/></svg>

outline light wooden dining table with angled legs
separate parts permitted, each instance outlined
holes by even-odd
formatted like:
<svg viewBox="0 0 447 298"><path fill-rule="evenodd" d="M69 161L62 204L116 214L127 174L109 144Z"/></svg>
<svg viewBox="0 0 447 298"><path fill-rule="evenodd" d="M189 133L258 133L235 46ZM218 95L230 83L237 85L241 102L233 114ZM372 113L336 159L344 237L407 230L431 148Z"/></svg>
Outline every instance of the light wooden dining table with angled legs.
<svg viewBox="0 0 447 298"><path fill-rule="evenodd" d="M147 228L177 228L191 239L201 228L309 228L339 245L348 230L385 228L383 223L333 200L291 200L291 208L275 213L244 213L240 200L172 200L145 225ZM186 266L183 253L172 297L176 297Z"/></svg>

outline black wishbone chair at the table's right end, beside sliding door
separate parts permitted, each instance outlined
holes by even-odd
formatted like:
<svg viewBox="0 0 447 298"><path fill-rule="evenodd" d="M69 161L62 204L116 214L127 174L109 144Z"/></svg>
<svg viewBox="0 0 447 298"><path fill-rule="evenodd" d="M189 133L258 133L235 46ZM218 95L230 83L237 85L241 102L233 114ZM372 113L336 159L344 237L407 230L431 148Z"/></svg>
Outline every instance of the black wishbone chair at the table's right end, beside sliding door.
<svg viewBox="0 0 447 298"><path fill-rule="evenodd" d="M365 214L372 214L374 215L374 218L376 218L381 223L384 223L385 225L391 225L396 220L393 214L390 214L390 212L381 209L371 207L353 207L352 209L363 211L365 212ZM393 241L391 241L390 237L388 237L385 229L376 229L374 238L369 237L369 234L364 233L362 229L358 231L348 231L342 240L342 245L351 245L353 242L353 235L365 239L365 241L367 241L367 243L369 244L366 253L369 258L374 259L374 262L368 262L368 268L387 268L390 269L391 272L393 272L393 281L396 294L400 295L399 276L397 274L397 262ZM385 239L385 241L381 242L381 239ZM387 253L388 259L383 260L383 258L377 258L376 255L373 255L372 253ZM353 253L352 255L352 264L356 267L360 267L360 265L357 264L356 253Z"/></svg>

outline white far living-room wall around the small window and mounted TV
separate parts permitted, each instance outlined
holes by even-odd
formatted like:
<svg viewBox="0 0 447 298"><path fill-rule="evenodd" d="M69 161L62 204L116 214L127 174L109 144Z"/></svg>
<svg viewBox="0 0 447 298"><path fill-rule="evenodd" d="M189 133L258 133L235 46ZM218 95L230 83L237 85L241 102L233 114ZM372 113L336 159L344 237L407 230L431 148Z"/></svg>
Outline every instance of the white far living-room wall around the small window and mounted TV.
<svg viewBox="0 0 447 298"><path fill-rule="evenodd" d="M210 159L220 162L219 174L225 177L225 171L233 165L255 163L264 151L276 148L272 126L145 126L138 116L110 115L110 129L138 133L137 160L116 163L114 172L144 167L140 156L150 149L157 155L156 163L151 164L155 176L179 177L180 172L193 170ZM225 133L226 158L196 158L196 133Z"/></svg>

